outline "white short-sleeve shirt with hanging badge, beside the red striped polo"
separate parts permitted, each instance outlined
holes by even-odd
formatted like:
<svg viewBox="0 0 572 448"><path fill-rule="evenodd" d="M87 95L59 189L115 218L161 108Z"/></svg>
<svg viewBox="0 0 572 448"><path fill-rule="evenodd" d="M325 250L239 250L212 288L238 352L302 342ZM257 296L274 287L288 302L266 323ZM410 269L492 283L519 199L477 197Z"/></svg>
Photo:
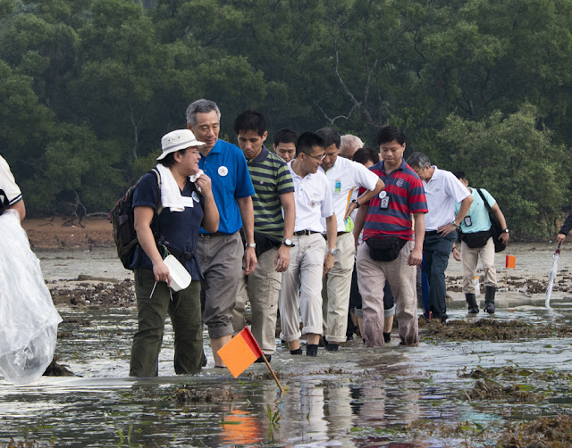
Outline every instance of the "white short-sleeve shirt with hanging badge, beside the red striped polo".
<svg viewBox="0 0 572 448"><path fill-rule="evenodd" d="M373 171L368 170L361 163L338 157L330 170L324 172L322 167L318 168L319 172L325 174L330 184L330 191L333 197L333 212L336 214L338 224L338 232L343 232L346 225L343 217L348 210L348 205L352 199L357 197L359 187L367 190L373 190L379 179ZM355 193L355 195L354 195ZM322 220L325 228L325 220Z"/></svg>

